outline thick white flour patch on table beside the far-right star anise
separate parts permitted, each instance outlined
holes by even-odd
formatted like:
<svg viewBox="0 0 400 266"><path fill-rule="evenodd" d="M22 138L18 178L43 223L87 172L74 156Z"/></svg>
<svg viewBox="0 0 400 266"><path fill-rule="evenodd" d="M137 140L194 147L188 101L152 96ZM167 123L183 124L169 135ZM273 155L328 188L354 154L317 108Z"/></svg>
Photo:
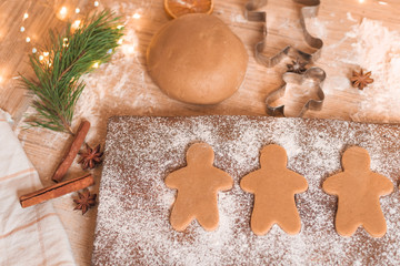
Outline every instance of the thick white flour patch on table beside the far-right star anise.
<svg viewBox="0 0 400 266"><path fill-rule="evenodd" d="M390 31L380 21L363 19L347 32L352 43L354 63L366 71L372 71L374 82L360 92L363 99L356 121L394 122L400 117L400 32ZM394 119L393 119L394 117ZM377 120L377 119L374 119Z"/></svg>

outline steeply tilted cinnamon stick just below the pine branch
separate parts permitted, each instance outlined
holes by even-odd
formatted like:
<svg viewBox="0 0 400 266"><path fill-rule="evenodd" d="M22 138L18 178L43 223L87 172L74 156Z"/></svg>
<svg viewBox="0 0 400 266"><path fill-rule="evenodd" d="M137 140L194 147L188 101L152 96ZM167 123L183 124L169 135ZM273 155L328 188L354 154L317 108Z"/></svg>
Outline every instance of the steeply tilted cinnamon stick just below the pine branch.
<svg viewBox="0 0 400 266"><path fill-rule="evenodd" d="M62 157L61 163L59 164L53 176L51 177L52 181L60 182L62 177L67 174L67 171L71 166L74 157L77 156L80 147L82 146L82 143L84 142L84 137L88 134L89 129L90 129L89 121L82 121L80 123L78 132L74 135L74 139L70 147L67 150L66 154Z"/></svg>

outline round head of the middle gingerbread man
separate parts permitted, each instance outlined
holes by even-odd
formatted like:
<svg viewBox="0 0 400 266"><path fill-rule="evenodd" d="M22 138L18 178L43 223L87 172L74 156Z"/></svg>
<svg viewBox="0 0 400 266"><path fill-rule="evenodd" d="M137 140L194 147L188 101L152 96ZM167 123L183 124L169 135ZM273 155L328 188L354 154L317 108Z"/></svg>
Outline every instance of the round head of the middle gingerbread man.
<svg viewBox="0 0 400 266"><path fill-rule="evenodd" d="M261 167L286 167L288 164L288 156L283 147L277 144L270 144L261 150L260 155Z"/></svg>

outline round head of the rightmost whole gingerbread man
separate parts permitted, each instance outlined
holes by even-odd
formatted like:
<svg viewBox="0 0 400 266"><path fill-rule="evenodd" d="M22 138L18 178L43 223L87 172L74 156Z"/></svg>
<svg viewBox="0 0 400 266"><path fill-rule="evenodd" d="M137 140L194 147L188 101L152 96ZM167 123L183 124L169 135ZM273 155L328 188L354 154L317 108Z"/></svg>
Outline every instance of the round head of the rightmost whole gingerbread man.
<svg viewBox="0 0 400 266"><path fill-rule="evenodd" d="M352 146L343 153L342 167L344 171L369 171L370 161L367 150Z"/></svg>

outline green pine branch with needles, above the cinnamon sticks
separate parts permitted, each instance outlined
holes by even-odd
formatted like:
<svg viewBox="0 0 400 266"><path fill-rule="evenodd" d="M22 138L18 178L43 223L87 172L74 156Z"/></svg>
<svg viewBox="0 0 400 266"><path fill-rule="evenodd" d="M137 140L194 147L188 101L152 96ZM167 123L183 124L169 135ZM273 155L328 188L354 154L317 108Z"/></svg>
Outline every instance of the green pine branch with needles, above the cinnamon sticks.
<svg viewBox="0 0 400 266"><path fill-rule="evenodd" d="M21 75L23 86L36 95L32 105L37 114L27 120L30 126L73 134L73 110L84 89L79 79L92 71L94 63L110 60L123 35L119 24L112 12L102 11L87 18L74 32L70 23L63 34L50 31L50 45L43 49L49 55L42 60L39 52L30 55L36 79Z"/></svg>

